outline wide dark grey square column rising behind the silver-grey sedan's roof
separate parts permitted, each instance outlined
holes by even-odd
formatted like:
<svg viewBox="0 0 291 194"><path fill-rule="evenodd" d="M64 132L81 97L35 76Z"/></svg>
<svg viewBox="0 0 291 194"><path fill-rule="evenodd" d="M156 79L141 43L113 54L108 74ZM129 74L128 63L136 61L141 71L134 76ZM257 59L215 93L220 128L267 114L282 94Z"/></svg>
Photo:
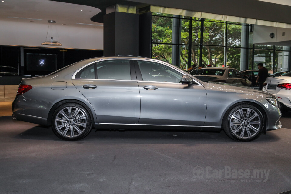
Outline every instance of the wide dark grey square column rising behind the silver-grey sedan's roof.
<svg viewBox="0 0 291 194"><path fill-rule="evenodd" d="M104 56L139 55L139 15L112 12L104 15Z"/></svg>

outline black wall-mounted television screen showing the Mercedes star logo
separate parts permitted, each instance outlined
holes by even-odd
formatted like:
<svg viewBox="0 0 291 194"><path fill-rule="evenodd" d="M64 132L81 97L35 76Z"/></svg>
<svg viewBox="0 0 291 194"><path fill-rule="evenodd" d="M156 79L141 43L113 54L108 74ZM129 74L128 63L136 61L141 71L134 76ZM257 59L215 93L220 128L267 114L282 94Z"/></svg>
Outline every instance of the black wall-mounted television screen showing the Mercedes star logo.
<svg viewBox="0 0 291 194"><path fill-rule="evenodd" d="M57 70L56 54L26 53L27 72L54 72Z"/></svg>

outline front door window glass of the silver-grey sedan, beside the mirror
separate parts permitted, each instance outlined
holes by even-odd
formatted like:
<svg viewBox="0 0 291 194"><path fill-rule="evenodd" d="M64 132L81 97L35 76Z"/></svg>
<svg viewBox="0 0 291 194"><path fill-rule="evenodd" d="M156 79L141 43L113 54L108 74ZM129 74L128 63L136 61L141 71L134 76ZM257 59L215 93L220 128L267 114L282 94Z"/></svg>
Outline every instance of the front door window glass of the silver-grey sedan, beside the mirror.
<svg viewBox="0 0 291 194"><path fill-rule="evenodd" d="M138 61L143 81L179 83L182 73L155 62Z"/></svg>

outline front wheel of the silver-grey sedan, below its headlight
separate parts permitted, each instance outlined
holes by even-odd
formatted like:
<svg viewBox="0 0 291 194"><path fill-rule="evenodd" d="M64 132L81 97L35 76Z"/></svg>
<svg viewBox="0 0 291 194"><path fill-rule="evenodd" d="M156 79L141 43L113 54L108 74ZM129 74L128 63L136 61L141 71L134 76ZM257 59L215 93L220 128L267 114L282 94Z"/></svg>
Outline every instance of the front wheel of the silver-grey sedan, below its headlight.
<svg viewBox="0 0 291 194"><path fill-rule="evenodd" d="M264 119L259 109L251 104L244 103L227 111L222 125L226 135L231 139L249 142L261 135Z"/></svg>

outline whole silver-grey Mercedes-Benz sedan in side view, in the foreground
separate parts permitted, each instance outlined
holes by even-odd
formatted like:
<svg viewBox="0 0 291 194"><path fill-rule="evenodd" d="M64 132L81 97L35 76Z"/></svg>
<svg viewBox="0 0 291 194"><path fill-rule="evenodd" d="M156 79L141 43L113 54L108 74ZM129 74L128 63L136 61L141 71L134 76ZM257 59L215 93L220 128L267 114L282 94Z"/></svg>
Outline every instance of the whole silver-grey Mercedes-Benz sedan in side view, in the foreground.
<svg viewBox="0 0 291 194"><path fill-rule="evenodd" d="M281 127L278 99L267 92L207 83L169 63L100 57L46 76L22 79L13 118L51 125L61 139L95 129L198 129L251 141Z"/></svg>

